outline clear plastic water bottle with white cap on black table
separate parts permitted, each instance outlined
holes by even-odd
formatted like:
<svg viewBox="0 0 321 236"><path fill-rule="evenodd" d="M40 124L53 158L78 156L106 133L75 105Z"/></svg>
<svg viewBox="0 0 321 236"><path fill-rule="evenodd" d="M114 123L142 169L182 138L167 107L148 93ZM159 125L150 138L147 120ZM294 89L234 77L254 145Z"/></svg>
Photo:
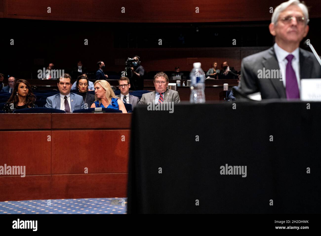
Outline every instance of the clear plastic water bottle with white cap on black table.
<svg viewBox="0 0 321 236"><path fill-rule="evenodd" d="M191 96L190 103L204 103L205 102L205 73L201 68L200 62L193 64L193 70L189 74L191 80Z"/></svg>

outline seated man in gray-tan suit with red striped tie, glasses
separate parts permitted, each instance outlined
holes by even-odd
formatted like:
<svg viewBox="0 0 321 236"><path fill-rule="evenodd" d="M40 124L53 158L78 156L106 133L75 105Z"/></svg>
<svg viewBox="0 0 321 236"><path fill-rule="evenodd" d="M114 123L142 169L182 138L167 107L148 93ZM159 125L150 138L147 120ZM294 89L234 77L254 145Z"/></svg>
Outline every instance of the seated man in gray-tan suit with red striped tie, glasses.
<svg viewBox="0 0 321 236"><path fill-rule="evenodd" d="M154 76L155 91L144 93L138 104L148 104L148 102L155 102L155 105L163 102L180 103L178 92L167 89L168 82L168 77L164 72L157 73Z"/></svg>

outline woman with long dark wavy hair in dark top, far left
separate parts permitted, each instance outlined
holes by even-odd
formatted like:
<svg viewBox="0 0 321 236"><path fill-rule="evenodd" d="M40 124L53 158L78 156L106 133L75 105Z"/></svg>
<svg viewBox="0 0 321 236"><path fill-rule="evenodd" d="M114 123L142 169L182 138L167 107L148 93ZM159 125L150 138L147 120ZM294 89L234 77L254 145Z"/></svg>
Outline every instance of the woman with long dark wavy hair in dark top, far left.
<svg viewBox="0 0 321 236"><path fill-rule="evenodd" d="M14 84L13 92L4 104L3 110L6 113L13 113L14 110L37 107L34 104L36 96L32 93L30 83L26 80L18 80Z"/></svg>

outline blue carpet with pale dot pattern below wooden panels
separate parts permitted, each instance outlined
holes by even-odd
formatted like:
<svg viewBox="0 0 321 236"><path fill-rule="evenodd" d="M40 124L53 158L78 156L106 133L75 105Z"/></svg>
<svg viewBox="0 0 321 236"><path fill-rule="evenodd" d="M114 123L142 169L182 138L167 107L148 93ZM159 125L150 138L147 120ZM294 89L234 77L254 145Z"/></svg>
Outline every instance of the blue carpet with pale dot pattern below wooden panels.
<svg viewBox="0 0 321 236"><path fill-rule="evenodd" d="M0 214L126 214L127 198L80 198L0 202Z"/></svg>

